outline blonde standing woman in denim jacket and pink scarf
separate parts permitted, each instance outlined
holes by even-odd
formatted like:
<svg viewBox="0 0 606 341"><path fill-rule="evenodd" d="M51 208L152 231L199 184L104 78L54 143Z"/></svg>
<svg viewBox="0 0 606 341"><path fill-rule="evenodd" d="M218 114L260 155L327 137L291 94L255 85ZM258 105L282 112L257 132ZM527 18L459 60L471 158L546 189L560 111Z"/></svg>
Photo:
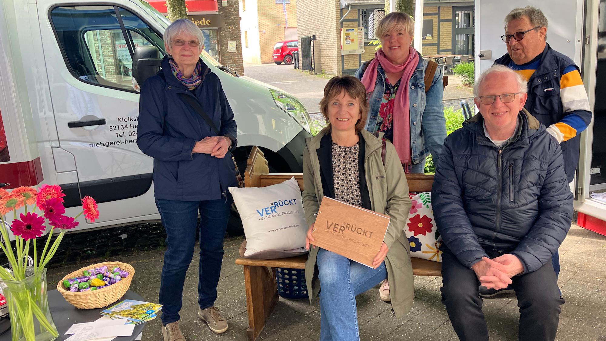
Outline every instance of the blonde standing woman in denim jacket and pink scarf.
<svg viewBox="0 0 606 341"><path fill-rule="evenodd" d="M425 158L431 153L437 163L446 138L442 72L436 69L431 84L425 84L427 62L411 46L415 22L406 13L389 13L375 33L381 49L355 75L368 93L366 130L385 133L406 173L423 173ZM382 300L390 300L387 280L379 294Z"/></svg>

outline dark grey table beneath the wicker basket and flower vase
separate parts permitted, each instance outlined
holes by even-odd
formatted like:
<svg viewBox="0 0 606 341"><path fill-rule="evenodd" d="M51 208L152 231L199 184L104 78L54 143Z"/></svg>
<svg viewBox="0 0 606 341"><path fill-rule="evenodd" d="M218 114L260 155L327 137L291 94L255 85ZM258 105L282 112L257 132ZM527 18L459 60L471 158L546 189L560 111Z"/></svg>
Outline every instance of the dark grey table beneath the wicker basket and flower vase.
<svg viewBox="0 0 606 341"><path fill-rule="evenodd" d="M137 301L142 301L143 297L141 297L141 295L137 294L134 291L130 291L128 290L124 296L122 296L121 300L137 300ZM116 301L118 302L118 301ZM114 303L110 304L113 305ZM101 311L103 309L106 309L106 307L104 308L100 308L100 309L78 309L73 305L70 305L70 303L67 303L67 301L63 298L63 296L59 293L59 291L56 290L50 290L48 291L48 305L50 305L50 312L51 314L53 314L53 320L55 321L55 326L57 327L57 330L59 331L59 338L56 340L65 340L68 337L72 336L72 334L70 335L64 335L65 332L67 331L67 329L70 329L70 327L74 324L74 323L84 323L84 322L93 322L97 319L99 319L99 317L101 317ZM143 327L145 326L145 323L140 323L138 325L135 326L135 331L133 331L133 335L132 336L121 336L121 337L116 337L114 340L115 341L132 341L135 340L135 338L137 336L139 336L139 333L141 333L141 331L143 330ZM11 335L10 335L10 329L2 334L0 336L0 341L10 341Z"/></svg>

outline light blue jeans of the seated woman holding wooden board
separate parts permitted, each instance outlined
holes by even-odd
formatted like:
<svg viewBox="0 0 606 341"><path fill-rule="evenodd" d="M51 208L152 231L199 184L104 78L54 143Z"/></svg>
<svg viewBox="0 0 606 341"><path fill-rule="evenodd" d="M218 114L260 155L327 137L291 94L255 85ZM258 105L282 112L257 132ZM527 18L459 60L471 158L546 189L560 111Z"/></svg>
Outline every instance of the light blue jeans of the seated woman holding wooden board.
<svg viewBox="0 0 606 341"><path fill-rule="evenodd" d="M372 269L319 249L316 264L320 279L320 341L359 341L356 295L387 278L385 262Z"/></svg>

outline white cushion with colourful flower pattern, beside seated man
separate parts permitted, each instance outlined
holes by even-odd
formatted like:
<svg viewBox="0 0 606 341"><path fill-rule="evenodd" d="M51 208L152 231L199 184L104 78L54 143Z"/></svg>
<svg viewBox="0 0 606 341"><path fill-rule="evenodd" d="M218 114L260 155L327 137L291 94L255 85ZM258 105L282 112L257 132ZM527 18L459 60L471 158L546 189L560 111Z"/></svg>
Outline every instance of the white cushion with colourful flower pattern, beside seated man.
<svg viewBox="0 0 606 341"><path fill-rule="evenodd" d="M431 192L409 194L412 206L404 232L410 243L410 257L442 262L439 246L442 237L436 228L431 209Z"/></svg>

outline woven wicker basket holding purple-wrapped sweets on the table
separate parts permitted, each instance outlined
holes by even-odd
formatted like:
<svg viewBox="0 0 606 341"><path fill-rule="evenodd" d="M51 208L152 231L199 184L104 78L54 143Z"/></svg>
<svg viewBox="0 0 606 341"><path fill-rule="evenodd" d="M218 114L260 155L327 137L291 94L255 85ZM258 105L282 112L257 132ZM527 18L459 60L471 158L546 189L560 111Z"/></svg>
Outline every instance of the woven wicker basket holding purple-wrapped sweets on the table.
<svg viewBox="0 0 606 341"><path fill-rule="evenodd" d="M118 266L120 269L124 271L128 271L128 277L122 279L120 282L107 286L106 288L93 290L93 291L76 291L72 292L66 290L63 286L63 281L65 279L71 279L73 277L78 277L82 275L84 270L92 269L92 268L100 268L101 266L106 265L107 268L113 268L114 266ZM103 262L97 263L89 266L85 266L84 268L78 269L77 271L72 272L71 274L66 275L57 283L57 290L61 292L65 300L76 308L80 309L96 309L103 308L104 306L110 305L110 303L116 302L121 299L124 293L128 290L130 286L130 282L133 280L133 276L135 275L135 268L130 266L130 264L122 263L122 262Z"/></svg>

